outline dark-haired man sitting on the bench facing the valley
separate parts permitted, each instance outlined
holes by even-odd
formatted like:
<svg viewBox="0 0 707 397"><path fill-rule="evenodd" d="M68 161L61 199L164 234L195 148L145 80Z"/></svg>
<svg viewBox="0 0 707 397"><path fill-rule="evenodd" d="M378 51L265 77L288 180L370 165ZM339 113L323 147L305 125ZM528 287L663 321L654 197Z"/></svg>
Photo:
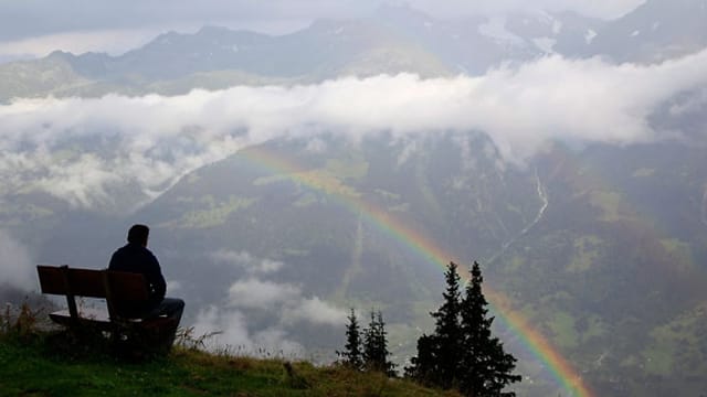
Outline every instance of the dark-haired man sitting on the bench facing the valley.
<svg viewBox="0 0 707 397"><path fill-rule="evenodd" d="M128 230L128 244L113 254L108 270L141 273L148 285L150 296L148 303L141 308L122 308L122 311L130 313L130 316L143 319L166 315L173 321L173 331L176 332L184 311L184 301L177 298L165 298L167 283L157 258L147 249L149 233L149 227L145 225L133 225ZM173 340L173 335L171 335L171 340Z"/></svg>

